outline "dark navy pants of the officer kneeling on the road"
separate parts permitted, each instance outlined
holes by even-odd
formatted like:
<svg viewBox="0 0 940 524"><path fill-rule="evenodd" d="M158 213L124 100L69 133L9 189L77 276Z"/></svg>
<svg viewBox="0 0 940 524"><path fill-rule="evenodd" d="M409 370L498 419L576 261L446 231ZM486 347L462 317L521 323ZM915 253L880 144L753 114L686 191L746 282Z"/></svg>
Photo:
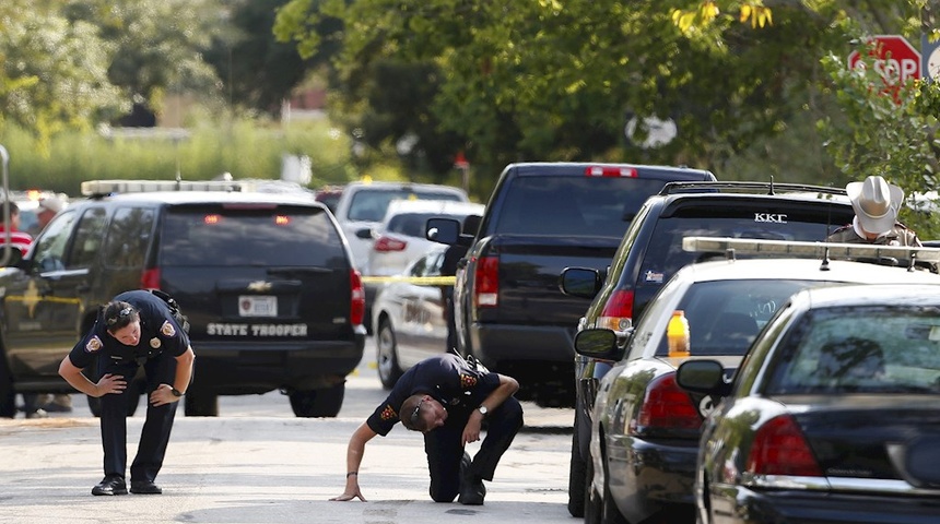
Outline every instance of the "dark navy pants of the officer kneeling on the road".
<svg viewBox="0 0 940 524"><path fill-rule="evenodd" d="M468 461L469 474L484 480L493 480L496 465L509 449L519 428L522 427L522 406L514 397L486 415L486 436L480 451L465 458L460 440L468 415L448 415L444 426L424 433L424 452L431 473L431 499L435 502L453 502L460 492L460 463Z"/></svg>

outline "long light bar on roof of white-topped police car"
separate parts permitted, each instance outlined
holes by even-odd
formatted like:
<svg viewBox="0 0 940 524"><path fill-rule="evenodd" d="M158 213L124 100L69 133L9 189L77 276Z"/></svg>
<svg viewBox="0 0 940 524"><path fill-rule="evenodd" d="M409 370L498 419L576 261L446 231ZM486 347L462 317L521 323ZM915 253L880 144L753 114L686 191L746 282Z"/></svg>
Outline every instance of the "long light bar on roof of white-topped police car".
<svg viewBox="0 0 940 524"><path fill-rule="evenodd" d="M806 242L756 238L684 237L682 250L727 252L794 258L882 259L894 258L918 262L940 262L940 248L880 246L872 243Z"/></svg>

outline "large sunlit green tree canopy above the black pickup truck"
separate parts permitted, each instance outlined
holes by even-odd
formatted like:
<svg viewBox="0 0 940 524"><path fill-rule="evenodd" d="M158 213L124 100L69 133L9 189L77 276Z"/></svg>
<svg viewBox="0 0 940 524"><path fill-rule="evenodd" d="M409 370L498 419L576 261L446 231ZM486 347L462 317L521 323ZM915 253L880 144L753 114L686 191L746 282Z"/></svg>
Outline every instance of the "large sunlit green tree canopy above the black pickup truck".
<svg viewBox="0 0 940 524"><path fill-rule="evenodd" d="M436 93L400 106L397 132L409 121L406 110L418 135L436 120L492 177L519 159L688 164L720 174L754 141L785 131L795 111L812 107L823 71L806 51L835 44L832 15L788 2L775 8L772 24L755 19L765 20L762 31L714 16L710 25L681 29L677 10L697 3L293 0L275 28L313 52L322 41L316 23L343 21L337 87L348 100L338 107L361 129L381 129L364 123L381 111L360 87L400 90L408 82L377 82L377 64L436 68ZM644 150L636 145L642 124L633 142L624 138L633 117L671 119L679 136Z"/></svg>

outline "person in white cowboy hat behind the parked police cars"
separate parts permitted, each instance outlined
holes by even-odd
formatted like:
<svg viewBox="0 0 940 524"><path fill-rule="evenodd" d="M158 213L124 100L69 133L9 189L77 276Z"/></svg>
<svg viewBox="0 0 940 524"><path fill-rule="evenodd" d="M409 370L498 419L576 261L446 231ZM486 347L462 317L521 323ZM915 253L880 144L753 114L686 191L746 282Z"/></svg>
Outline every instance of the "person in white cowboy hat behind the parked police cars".
<svg viewBox="0 0 940 524"><path fill-rule="evenodd" d="M871 176L863 182L849 182L845 190L855 219L833 231L827 238L830 242L920 246L917 234L897 222L903 189L888 183L883 177Z"/></svg>

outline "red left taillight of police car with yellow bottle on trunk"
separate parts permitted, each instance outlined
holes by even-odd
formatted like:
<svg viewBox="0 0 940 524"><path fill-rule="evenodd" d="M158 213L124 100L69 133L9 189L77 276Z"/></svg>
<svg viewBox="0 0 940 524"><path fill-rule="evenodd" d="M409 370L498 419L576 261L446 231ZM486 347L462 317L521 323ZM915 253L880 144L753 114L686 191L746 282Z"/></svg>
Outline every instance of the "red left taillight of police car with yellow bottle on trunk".
<svg viewBox="0 0 940 524"><path fill-rule="evenodd" d="M643 406L631 433L649 429L698 429L702 417L689 393L675 383L675 373L654 379L646 388Z"/></svg>

